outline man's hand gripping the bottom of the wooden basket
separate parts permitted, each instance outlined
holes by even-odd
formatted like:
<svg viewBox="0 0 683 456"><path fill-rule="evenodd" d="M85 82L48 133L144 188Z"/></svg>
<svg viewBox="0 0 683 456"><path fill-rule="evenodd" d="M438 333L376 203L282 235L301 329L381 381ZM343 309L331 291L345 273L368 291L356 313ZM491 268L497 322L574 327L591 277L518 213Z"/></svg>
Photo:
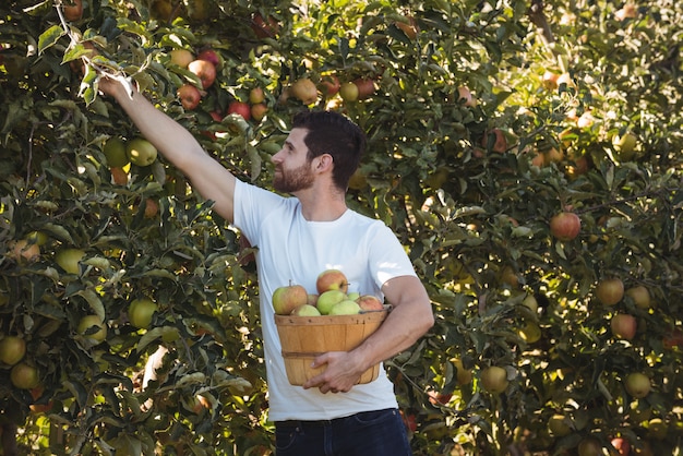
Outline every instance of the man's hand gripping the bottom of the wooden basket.
<svg viewBox="0 0 683 456"><path fill-rule="evenodd" d="M327 365L327 369L303 384L303 388L317 387L321 393L348 393L358 383L363 371L348 351L329 351L313 361L313 368Z"/></svg>

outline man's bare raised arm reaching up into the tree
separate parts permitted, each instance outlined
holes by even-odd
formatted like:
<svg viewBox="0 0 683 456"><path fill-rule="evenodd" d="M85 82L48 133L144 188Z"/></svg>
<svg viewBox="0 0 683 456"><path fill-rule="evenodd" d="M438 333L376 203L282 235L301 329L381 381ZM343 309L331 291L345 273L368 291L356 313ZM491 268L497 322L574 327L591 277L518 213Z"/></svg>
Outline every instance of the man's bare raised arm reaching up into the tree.
<svg viewBox="0 0 683 456"><path fill-rule="evenodd" d="M119 103L141 134L190 179L193 189L216 203L217 214L231 223L235 176L211 157L188 130L155 108L136 89L131 97L120 82L105 77L99 82L99 89Z"/></svg>

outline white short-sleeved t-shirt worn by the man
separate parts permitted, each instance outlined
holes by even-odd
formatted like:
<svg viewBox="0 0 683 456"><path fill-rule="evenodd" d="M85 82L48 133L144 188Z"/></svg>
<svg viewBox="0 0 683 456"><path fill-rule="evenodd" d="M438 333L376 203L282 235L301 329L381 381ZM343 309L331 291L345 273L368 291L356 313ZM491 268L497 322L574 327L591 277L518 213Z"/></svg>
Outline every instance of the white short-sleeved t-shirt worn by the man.
<svg viewBox="0 0 683 456"><path fill-rule="evenodd" d="M392 230L351 209L334 221L308 221L296 197L283 197L239 180L235 226L257 248L269 419L326 420L397 407L384 368L378 380L356 385L348 393L322 394L317 388L289 384L271 302L273 291L290 283L315 292L317 275L328 268L344 272L349 292L375 295L383 300L381 288L386 280L416 275Z"/></svg>

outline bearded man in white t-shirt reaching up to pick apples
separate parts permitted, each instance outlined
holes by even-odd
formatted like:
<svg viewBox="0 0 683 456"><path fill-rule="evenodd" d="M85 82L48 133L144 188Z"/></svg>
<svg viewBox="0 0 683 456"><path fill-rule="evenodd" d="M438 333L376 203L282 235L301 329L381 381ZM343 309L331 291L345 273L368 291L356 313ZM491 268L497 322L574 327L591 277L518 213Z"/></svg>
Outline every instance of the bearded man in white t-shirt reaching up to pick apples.
<svg viewBox="0 0 683 456"><path fill-rule="evenodd" d="M293 119L284 147L273 156L273 187L293 197L238 180L180 124L142 94L103 80L141 133L182 171L214 211L257 248L256 265L267 370L269 419L278 456L409 455L393 385L357 384L370 367L410 347L433 325L427 291L405 251L381 221L346 205L346 189L366 145L362 131L335 112L307 111ZM345 273L349 291L384 297L393 307L384 323L349 352L319 356L326 365L303 387L288 383L271 302L283 285L315 290L317 274ZM333 393L333 394L327 394Z"/></svg>

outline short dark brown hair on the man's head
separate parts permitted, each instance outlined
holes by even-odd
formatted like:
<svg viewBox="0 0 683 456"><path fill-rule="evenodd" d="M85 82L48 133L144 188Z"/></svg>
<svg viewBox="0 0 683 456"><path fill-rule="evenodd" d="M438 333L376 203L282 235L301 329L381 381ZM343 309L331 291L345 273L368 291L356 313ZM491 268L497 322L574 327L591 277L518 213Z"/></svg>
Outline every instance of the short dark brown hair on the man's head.
<svg viewBox="0 0 683 456"><path fill-rule="evenodd" d="M346 191L366 149L363 131L334 111L300 111L293 117L292 129L296 128L308 130L303 142L309 148L309 160L323 154L332 156L332 179Z"/></svg>

